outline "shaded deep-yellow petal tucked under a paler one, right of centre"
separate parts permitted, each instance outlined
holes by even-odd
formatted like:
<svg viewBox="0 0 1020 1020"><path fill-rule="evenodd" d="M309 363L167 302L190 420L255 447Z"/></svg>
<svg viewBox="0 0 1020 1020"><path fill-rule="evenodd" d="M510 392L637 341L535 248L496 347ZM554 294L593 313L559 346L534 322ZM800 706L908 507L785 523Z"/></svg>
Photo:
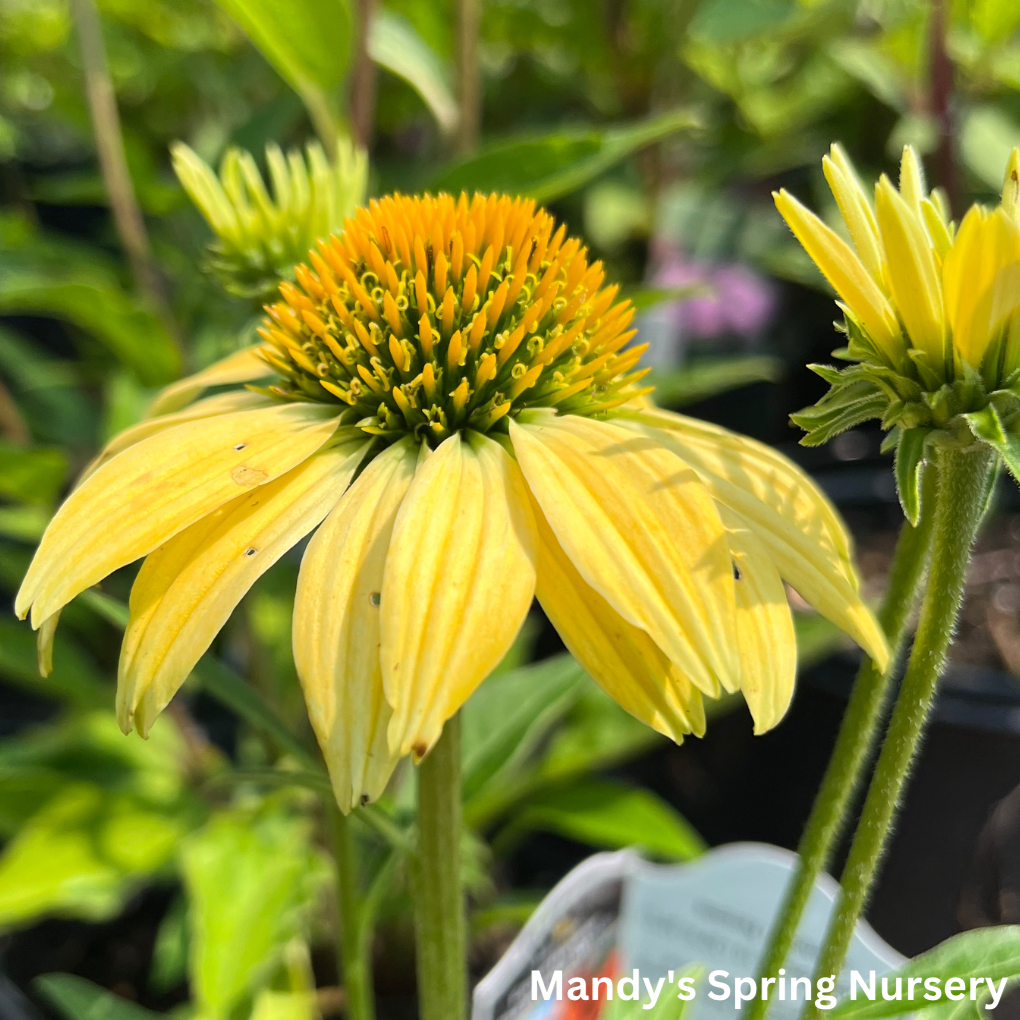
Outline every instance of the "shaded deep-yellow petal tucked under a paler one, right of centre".
<svg viewBox="0 0 1020 1020"><path fill-rule="evenodd" d="M680 744L705 732L701 693L640 627L620 616L584 579L534 505L539 528L536 595L567 651L621 708Z"/></svg>

